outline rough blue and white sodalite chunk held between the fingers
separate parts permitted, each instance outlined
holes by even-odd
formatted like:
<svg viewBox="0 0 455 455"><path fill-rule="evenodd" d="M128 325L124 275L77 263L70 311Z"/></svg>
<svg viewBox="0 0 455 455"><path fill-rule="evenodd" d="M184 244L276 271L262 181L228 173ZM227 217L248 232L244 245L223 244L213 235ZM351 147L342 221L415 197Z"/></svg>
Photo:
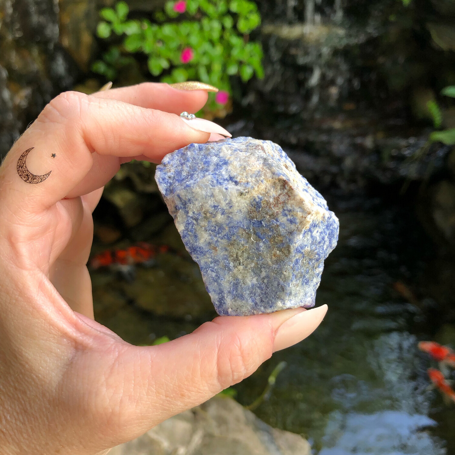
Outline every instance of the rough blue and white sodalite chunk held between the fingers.
<svg viewBox="0 0 455 455"><path fill-rule="evenodd" d="M190 144L155 178L218 314L314 305L338 219L277 144Z"/></svg>

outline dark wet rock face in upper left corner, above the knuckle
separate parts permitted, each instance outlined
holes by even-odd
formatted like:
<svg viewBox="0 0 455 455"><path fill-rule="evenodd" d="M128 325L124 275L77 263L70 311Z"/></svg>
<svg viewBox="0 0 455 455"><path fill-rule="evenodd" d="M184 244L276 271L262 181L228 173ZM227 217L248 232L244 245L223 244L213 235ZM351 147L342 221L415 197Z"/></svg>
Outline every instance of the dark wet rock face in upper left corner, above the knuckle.
<svg viewBox="0 0 455 455"><path fill-rule="evenodd" d="M0 157L78 69L59 45L58 2L0 2Z"/></svg>

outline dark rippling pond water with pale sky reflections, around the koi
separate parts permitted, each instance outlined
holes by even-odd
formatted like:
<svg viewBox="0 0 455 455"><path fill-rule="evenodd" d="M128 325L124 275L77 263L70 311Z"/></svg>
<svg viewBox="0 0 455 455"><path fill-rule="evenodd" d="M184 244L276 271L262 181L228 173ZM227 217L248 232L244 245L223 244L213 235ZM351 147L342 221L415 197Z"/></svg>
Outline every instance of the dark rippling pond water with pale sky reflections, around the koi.
<svg viewBox="0 0 455 455"><path fill-rule="evenodd" d="M455 406L428 389L430 359L417 349L441 324L431 316L435 301L412 293L421 288L434 251L408 205L329 196L340 239L317 294L317 305L327 303L329 312L308 339L274 354L234 386L238 401L251 404L285 361L270 397L254 412L305 436L314 454L455 454ZM97 272L95 286L100 277L109 281L107 272ZM397 282L406 283L411 297L395 290ZM116 308L98 312L97 319L136 344L182 336L213 316L152 316L131 299ZM455 342L455 327L445 324L443 331L445 342L450 336Z"/></svg>

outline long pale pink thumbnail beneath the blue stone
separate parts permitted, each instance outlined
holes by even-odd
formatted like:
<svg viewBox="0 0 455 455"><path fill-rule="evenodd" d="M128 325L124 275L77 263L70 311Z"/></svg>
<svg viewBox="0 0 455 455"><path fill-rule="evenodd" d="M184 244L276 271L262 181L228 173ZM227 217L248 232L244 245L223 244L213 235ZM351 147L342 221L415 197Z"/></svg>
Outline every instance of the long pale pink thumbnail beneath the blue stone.
<svg viewBox="0 0 455 455"><path fill-rule="evenodd" d="M302 308L303 309L303 308ZM327 313L327 305L301 311L278 327L273 343L273 352L288 348L302 341L316 330Z"/></svg>

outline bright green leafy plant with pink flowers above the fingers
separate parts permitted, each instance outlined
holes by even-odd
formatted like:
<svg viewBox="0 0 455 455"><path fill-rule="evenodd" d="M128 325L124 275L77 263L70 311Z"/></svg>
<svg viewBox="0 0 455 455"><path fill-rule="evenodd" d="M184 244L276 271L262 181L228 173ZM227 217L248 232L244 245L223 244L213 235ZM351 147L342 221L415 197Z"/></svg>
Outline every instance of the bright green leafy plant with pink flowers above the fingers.
<svg viewBox="0 0 455 455"><path fill-rule="evenodd" d="M227 92L211 94L212 108L227 101L232 93L229 76L247 82L256 74L263 77L262 47L249 40L249 33L261 23L256 4L249 0L167 1L164 11L150 20L127 20L128 6L103 8L96 33L112 40L123 37L96 61L92 70L116 78L131 54L145 54L148 70L161 81L174 83L199 80ZM181 20L182 19L182 20ZM218 102L217 102L218 101Z"/></svg>

